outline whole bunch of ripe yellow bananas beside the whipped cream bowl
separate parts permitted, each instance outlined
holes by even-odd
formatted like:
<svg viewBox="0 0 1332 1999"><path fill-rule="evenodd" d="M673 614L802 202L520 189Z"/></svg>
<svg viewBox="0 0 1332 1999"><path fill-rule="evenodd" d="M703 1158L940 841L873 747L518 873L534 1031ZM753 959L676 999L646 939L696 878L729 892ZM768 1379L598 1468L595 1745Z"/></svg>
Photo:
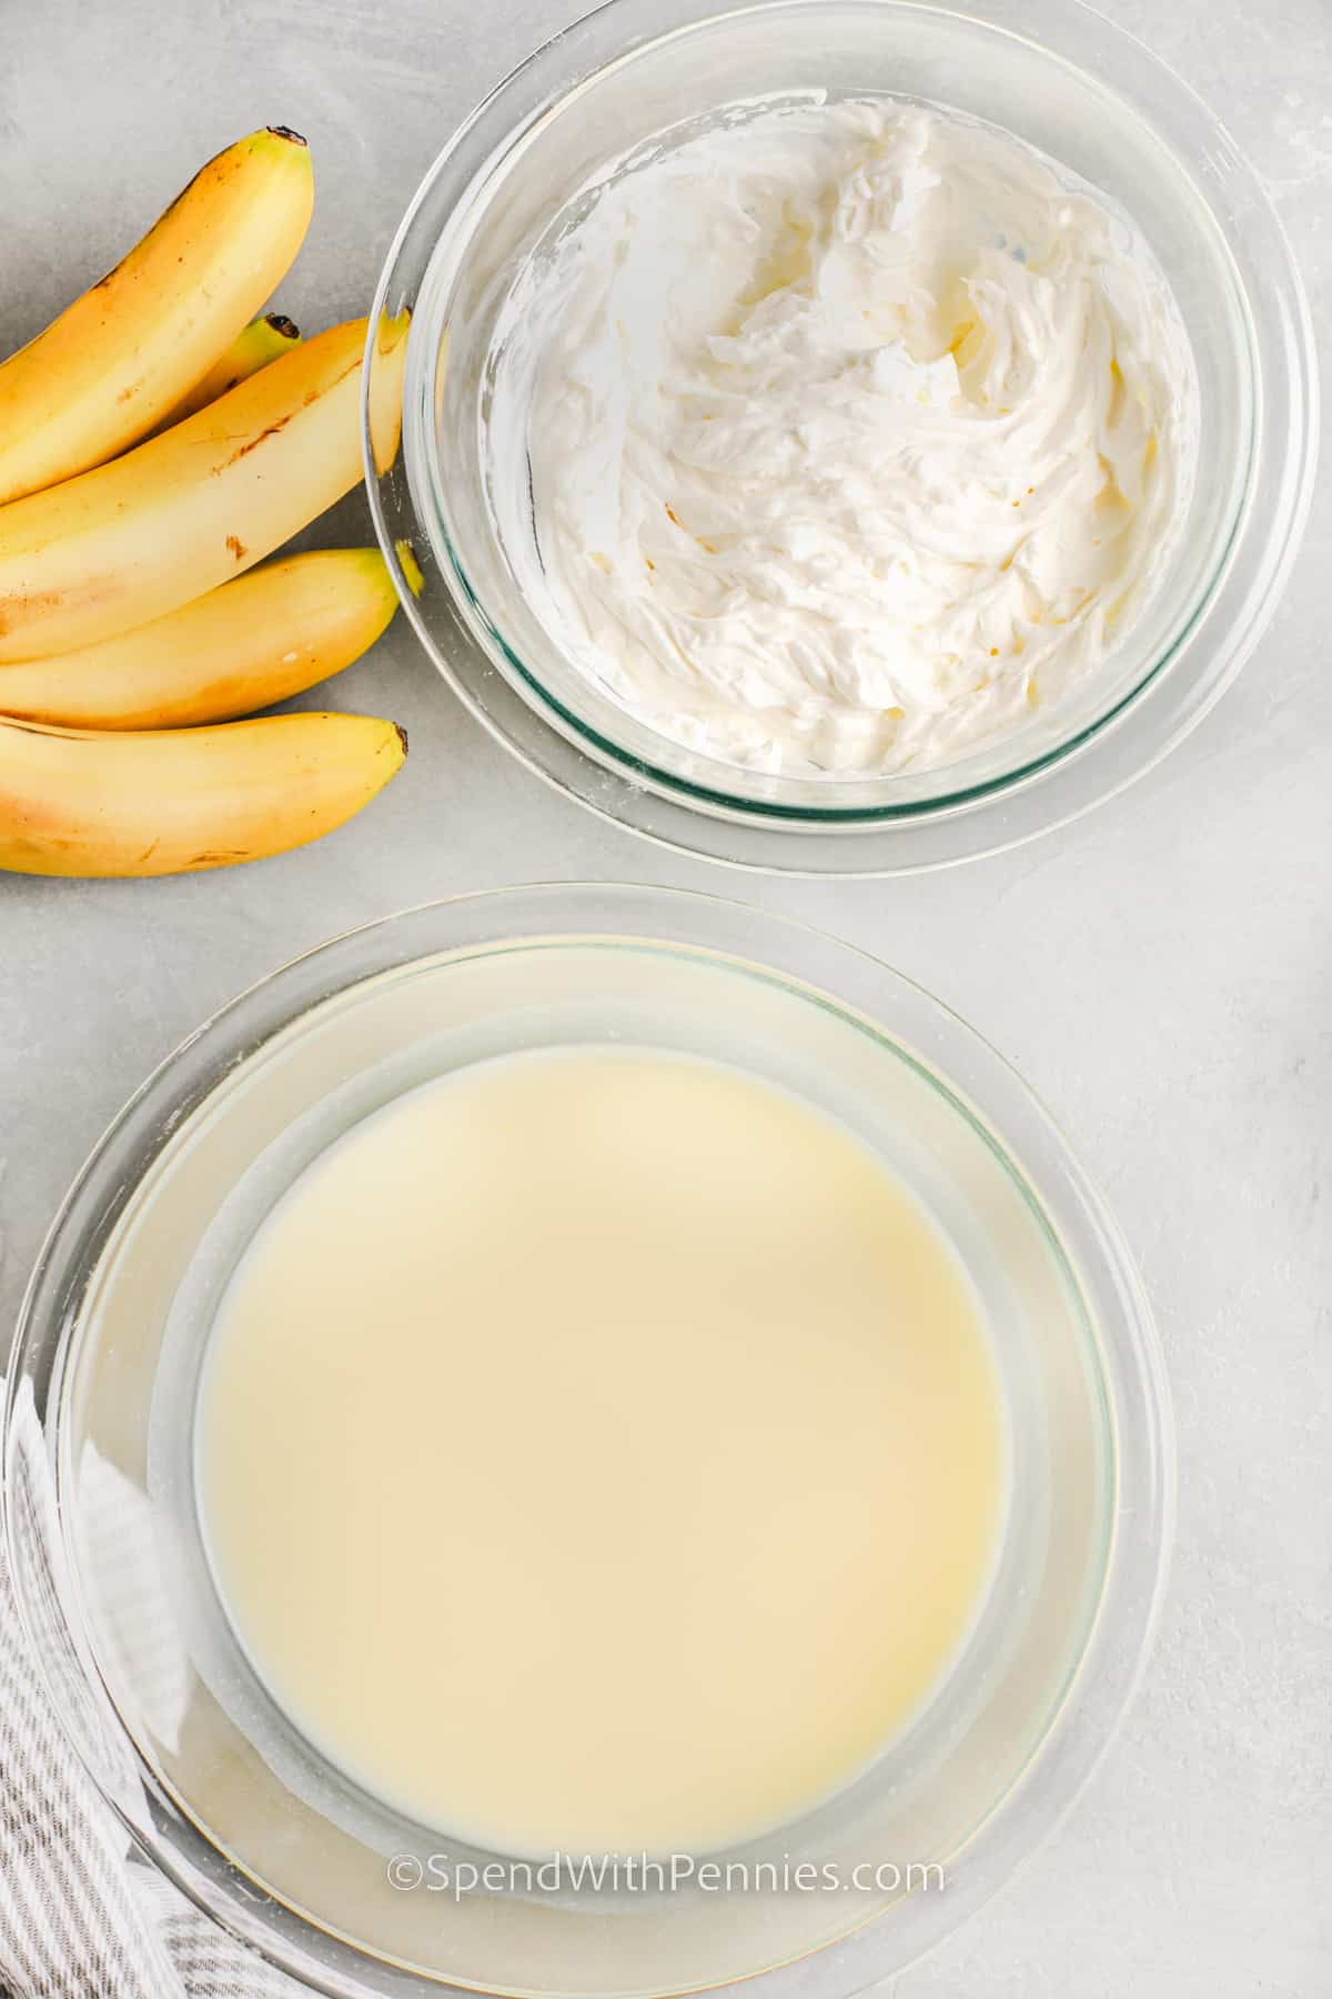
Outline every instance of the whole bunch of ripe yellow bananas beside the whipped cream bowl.
<svg viewBox="0 0 1332 1999"><path fill-rule="evenodd" d="M0 868L154 876L304 846L407 740L369 716L240 722L349 666L395 596L367 548L274 554L361 478L367 322L262 314L314 206L272 126L0 364ZM375 330L379 468L405 316ZM272 560L266 560L272 558Z"/></svg>

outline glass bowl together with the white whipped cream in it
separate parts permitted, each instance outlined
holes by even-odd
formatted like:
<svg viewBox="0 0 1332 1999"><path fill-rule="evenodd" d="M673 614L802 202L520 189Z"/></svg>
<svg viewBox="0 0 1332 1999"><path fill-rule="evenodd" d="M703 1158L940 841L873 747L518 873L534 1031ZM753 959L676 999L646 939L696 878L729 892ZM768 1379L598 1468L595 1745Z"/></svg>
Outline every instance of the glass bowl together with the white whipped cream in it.
<svg viewBox="0 0 1332 1999"><path fill-rule="evenodd" d="M1266 194L1078 0L611 0L449 140L401 308L369 496L435 666L749 868L941 866L1120 790L1312 490Z"/></svg>

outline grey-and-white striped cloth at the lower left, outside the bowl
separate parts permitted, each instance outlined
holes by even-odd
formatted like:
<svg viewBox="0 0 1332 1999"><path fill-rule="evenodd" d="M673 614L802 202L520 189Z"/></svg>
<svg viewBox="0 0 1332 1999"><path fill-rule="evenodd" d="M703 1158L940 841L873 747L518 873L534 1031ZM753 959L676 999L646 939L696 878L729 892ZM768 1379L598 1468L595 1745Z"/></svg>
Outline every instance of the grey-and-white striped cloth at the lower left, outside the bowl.
<svg viewBox="0 0 1332 1999"><path fill-rule="evenodd" d="M0 1379L0 1393L4 1381ZM16 1511L22 1495L6 1493ZM32 1523L32 1531L40 1531ZM300 1999L132 1851L18 1623L0 1535L0 1995Z"/></svg>

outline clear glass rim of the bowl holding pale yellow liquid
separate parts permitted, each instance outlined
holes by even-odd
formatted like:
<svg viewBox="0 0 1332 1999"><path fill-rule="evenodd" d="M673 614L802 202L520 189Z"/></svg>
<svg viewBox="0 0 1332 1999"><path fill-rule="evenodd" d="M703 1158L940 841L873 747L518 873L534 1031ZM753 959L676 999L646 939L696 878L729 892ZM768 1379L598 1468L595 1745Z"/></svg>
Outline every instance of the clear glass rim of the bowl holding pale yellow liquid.
<svg viewBox="0 0 1332 1999"><path fill-rule="evenodd" d="M403 934L407 940L425 934L427 942L395 948ZM266 1043L300 1031L312 1011L365 980L439 954L475 956L477 944L497 950L543 938L673 944L757 970L873 1029L891 1051L915 1061L935 1087L947 1091L985 1137L999 1139L1002 1163L1016 1171L1022 1191L1034 1195L1044 1225L1052 1225L1064 1247L1078 1299L1094 1325L1112 1437L1114 1509L1100 1597L1082 1653L1026 1765L951 1863L949 1895L909 1897L889 1911L891 1921L871 1917L831 1945L845 1967L839 1989L859 1991L917 1961L989 1901L1080 1795L1150 1653L1166 1585L1176 1479L1164 1355L1140 1277L1096 1185L1016 1069L961 1015L869 952L791 918L693 890L543 882L421 904L343 932L280 966L216 1009L158 1063L98 1139L56 1213L20 1307L8 1369L6 1489L24 1391L38 1411L50 1461L58 1465L66 1369L88 1281L142 1177L228 1073ZM899 1029L897 1021L889 1025L885 1009L901 1013L905 1027ZM1012 1143L1014 1137L1020 1143ZM60 1705L42 1619L34 1615L32 1591L40 1589L32 1573L34 1555L16 1533L12 1509L0 1511L20 1623ZM136 1765L134 1783L120 1779L116 1787L100 1769L90 1769L92 1781L138 1847L198 1909L266 1961L332 1999L367 1991L425 1995L459 1989L431 1973L393 1969L387 1959L367 1957L282 1903L272 1905L274 1921L264 1923L244 1897L228 1893L224 1883L236 1869L224 1863L220 1849L142 1757L100 1677L80 1605L60 1603L60 1621L104 1723L118 1743L130 1747ZM304 1939L314 1933L324 1951L318 1963L304 1949ZM799 1979L801 1967L811 1961L809 1955L799 1957L757 1975L767 1979L767 1991L777 1999L783 1981ZM789 1989L795 1991L793 1985Z"/></svg>

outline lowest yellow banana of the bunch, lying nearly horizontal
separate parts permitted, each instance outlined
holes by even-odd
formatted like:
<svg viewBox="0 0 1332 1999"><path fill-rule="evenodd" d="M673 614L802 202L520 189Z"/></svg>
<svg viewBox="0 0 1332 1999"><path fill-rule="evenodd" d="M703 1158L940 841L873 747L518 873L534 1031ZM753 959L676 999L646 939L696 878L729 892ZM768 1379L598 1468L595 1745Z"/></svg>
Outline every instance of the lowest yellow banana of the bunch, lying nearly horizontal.
<svg viewBox="0 0 1332 1999"><path fill-rule="evenodd" d="M371 716L120 736L0 722L0 868L162 876L284 854L359 812L405 754Z"/></svg>

